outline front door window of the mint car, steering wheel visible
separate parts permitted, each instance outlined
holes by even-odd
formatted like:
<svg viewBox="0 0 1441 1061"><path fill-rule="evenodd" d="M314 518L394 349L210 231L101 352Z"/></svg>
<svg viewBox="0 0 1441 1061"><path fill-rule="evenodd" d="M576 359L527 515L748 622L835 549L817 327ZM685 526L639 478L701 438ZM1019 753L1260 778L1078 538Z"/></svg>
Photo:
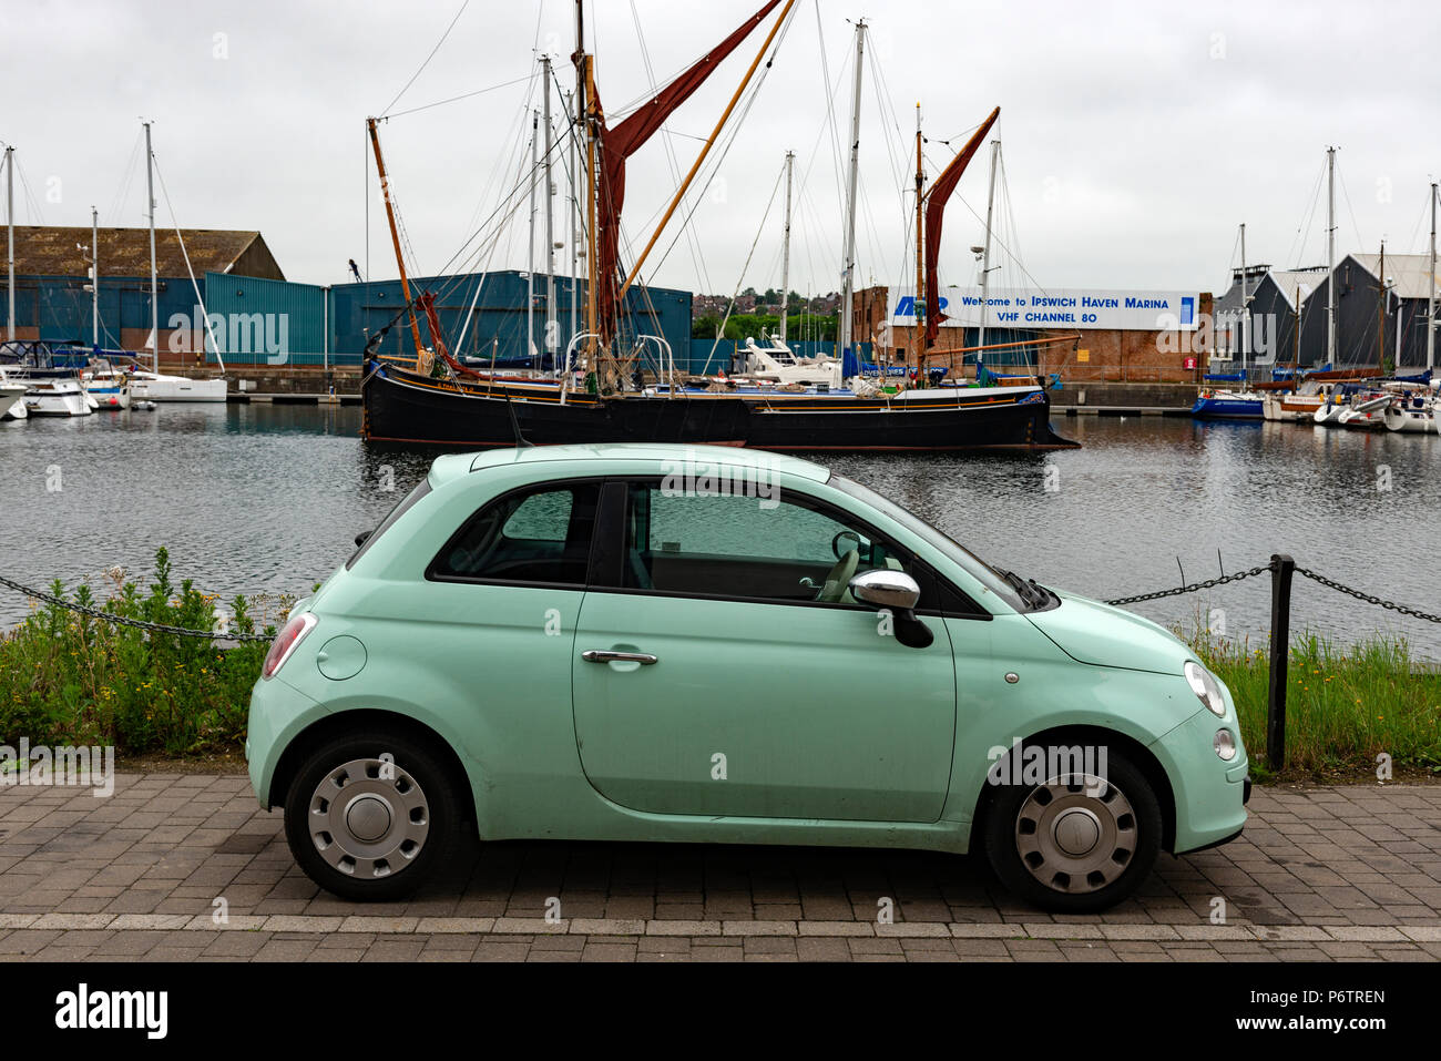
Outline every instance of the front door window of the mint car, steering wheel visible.
<svg viewBox="0 0 1441 1061"><path fill-rule="evenodd" d="M621 584L697 597L856 604L863 571L911 571L908 554L859 520L797 493L764 502L631 483ZM912 572L915 574L915 572ZM921 607L931 607L931 580Z"/></svg>

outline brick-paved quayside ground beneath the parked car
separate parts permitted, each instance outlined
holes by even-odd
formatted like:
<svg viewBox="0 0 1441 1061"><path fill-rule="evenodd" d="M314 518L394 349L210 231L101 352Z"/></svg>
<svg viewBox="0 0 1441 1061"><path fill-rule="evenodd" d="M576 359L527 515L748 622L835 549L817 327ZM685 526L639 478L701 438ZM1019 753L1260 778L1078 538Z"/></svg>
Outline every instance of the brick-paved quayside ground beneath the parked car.
<svg viewBox="0 0 1441 1061"><path fill-rule="evenodd" d="M1040 914L948 855L562 842L468 842L378 907L310 884L244 776L121 774L110 799L4 786L0 962L1441 959L1441 787L1257 789L1251 810L1239 840L1163 855L1091 917Z"/></svg>

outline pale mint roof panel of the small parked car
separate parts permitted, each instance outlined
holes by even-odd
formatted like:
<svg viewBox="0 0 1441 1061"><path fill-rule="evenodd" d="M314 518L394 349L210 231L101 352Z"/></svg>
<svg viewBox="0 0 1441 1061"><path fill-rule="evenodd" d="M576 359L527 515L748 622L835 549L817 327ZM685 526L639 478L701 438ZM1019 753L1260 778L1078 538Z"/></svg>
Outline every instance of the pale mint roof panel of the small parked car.
<svg viewBox="0 0 1441 1061"><path fill-rule="evenodd" d="M653 464L656 471L677 470L682 466L710 464L731 469L752 469L767 473L784 471L814 483L830 479L830 469L798 457L787 457L765 450L745 450L735 445L666 445L661 443L586 443L575 445L530 445L520 450L487 450L438 457L432 471L438 479L450 479L461 471L509 467L516 464ZM582 469L576 469L581 471ZM648 471L651 469L637 469ZM556 469L559 471L559 469Z"/></svg>

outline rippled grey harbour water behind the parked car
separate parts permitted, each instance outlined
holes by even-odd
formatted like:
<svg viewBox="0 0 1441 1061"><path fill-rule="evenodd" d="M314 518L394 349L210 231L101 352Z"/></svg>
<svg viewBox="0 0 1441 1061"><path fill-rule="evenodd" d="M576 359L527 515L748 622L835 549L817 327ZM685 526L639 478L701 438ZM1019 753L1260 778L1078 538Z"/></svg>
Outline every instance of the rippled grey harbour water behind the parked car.
<svg viewBox="0 0 1441 1061"><path fill-rule="evenodd" d="M0 575L73 585L157 545L208 592L304 595L342 564L432 454L370 451L357 408L160 407L0 424ZM1441 611L1441 437L1293 424L1058 418L1084 444L1022 457L831 456L986 559L1108 598L1264 564L1272 552L1378 597ZM59 487L59 489L53 489ZM1177 565L1179 561L1179 565ZM1167 626L1223 608L1264 644L1270 582L1136 605ZM1441 627L1297 580L1293 627L1378 630L1441 660ZM0 590L0 626L26 603ZM1216 616L1213 618L1221 618Z"/></svg>

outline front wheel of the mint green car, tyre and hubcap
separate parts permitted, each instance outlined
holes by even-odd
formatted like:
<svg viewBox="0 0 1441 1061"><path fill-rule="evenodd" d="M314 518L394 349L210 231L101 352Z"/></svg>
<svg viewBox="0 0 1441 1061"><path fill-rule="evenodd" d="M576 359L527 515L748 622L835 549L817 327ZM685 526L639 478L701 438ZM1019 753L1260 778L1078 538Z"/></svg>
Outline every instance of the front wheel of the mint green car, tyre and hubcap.
<svg viewBox="0 0 1441 1061"><path fill-rule="evenodd" d="M1111 750L1101 784L997 786L983 823L1000 882L1056 914L1094 914L1131 895L1156 865L1161 827L1146 774Z"/></svg>

